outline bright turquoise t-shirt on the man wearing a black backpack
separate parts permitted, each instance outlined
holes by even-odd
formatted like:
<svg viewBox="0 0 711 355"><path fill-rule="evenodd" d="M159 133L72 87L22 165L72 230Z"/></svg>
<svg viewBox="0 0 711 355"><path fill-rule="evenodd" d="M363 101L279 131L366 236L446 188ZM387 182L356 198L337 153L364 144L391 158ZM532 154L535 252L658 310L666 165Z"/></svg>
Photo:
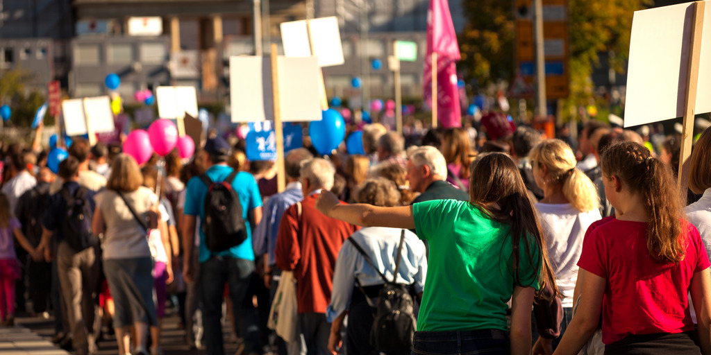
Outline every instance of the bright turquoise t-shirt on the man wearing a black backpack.
<svg viewBox="0 0 711 355"><path fill-rule="evenodd" d="M232 168L228 165L213 165L205 172L213 182L223 181L232 173ZM257 182L252 174L237 173L235 180L232 180L232 189L237 192L242 203L242 218L247 225L247 239L238 246L234 246L221 253L213 253L205 246L205 232L200 229L200 262L208 261L214 255L230 256L246 260L255 260L255 252L252 250L252 227L247 218L248 213L257 207L262 207L262 197ZM201 221L205 220L205 195L208 193L208 186L199 176L192 178L188 182L185 197L184 213L189 216L199 216Z"/></svg>

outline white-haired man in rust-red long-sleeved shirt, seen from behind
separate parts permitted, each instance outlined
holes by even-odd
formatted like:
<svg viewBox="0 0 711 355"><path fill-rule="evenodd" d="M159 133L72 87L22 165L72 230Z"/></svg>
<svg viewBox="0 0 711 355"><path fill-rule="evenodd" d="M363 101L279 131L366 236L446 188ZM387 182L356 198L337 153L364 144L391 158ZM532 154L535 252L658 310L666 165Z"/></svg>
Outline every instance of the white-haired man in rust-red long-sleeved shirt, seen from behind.
<svg viewBox="0 0 711 355"><path fill-rule="evenodd" d="M358 226L332 219L316 209L321 190L331 190L336 170L328 160L314 158L301 167L301 208L294 204L282 217L277 236L277 266L294 271L299 308L299 333L307 354L330 354L326 307L331 302L333 269L343 241Z"/></svg>

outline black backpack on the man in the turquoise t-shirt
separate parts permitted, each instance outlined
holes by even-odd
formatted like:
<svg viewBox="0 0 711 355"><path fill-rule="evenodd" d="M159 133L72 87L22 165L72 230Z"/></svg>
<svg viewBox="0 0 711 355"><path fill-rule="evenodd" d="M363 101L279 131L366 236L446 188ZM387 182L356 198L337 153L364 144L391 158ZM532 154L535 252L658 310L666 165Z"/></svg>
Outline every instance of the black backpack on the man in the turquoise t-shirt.
<svg viewBox="0 0 711 355"><path fill-rule="evenodd" d="M205 195L205 220L201 221L205 232L205 244L210 251L219 253L242 244L247 239L247 225L242 218L240 196L232 189L237 170L221 182L213 182L208 175L200 175L208 186Z"/></svg>

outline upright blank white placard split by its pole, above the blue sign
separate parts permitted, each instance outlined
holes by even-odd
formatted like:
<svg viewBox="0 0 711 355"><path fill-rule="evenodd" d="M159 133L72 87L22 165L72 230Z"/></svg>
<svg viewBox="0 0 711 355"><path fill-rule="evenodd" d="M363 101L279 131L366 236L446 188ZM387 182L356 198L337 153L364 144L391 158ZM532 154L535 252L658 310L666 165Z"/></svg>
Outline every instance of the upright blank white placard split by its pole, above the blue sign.
<svg viewBox="0 0 711 355"><path fill-rule="evenodd" d="M318 60L279 57L277 62L282 121L320 120ZM232 122L274 119L269 58L230 57L230 107Z"/></svg>

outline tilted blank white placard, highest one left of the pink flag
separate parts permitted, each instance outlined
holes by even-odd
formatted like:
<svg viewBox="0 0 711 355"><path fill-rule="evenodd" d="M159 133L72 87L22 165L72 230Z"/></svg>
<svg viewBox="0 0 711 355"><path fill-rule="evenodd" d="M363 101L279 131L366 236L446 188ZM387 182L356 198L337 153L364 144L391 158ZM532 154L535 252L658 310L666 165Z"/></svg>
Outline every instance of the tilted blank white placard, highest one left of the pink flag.
<svg viewBox="0 0 711 355"><path fill-rule="evenodd" d="M281 23L284 55L319 58L319 67L341 65L343 47L336 16ZM308 28L308 29L307 29Z"/></svg>

